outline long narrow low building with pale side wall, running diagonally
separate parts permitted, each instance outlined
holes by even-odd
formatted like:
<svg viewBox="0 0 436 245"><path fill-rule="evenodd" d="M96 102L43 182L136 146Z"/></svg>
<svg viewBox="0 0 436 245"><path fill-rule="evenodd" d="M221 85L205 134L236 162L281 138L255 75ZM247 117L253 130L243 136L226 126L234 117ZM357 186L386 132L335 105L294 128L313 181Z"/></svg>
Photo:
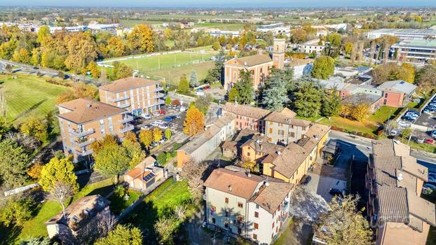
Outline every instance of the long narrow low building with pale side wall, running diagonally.
<svg viewBox="0 0 436 245"><path fill-rule="evenodd" d="M201 162L223 141L235 133L235 118L225 115L198 133L188 143L177 150L177 167L182 168L189 160Z"/></svg>

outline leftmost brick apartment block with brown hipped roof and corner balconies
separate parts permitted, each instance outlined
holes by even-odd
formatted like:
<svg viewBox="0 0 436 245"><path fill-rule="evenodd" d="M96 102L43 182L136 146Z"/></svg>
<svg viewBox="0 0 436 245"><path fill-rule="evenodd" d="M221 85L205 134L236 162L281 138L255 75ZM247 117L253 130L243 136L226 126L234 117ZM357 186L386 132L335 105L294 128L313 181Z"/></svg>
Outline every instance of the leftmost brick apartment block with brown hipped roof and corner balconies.
<svg viewBox="0 0 436 245"><path fill-rule="evenodd" d="M123 137L134 129L132 116L125 109L93 99L74 99L57 104L64 154L74 155L74 161L89 160L90 144L106 134Z"/></svg>

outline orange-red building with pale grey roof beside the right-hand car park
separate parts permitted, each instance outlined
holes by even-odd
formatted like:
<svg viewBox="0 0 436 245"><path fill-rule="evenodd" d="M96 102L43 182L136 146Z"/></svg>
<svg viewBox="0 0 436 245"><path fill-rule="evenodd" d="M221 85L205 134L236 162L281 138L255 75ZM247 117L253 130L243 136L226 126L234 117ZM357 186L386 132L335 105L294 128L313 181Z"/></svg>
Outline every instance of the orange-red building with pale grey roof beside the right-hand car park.
<svg viewBox="0 0 436 245"><path fill-rule="evenodd" d="M403 107L411 101L411 96L416 90L416 85L404 80L391 80L377 87L383 91L383 105Z"/></svg>

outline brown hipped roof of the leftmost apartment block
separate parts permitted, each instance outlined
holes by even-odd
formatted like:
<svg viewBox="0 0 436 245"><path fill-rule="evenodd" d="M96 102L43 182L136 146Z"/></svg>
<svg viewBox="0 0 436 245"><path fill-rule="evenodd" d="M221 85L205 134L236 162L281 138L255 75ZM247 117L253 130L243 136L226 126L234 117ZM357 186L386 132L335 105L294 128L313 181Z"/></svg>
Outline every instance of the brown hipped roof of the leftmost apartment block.
<svg viewBox="0 0 436 245"><path fill-rule="evenodd" d="M58 117L72 123L83 124L100 120L116 114L126 113L125 109L97 102L90 98L74 99L57 106L68 109L69 112L61 113Z"/></svg>

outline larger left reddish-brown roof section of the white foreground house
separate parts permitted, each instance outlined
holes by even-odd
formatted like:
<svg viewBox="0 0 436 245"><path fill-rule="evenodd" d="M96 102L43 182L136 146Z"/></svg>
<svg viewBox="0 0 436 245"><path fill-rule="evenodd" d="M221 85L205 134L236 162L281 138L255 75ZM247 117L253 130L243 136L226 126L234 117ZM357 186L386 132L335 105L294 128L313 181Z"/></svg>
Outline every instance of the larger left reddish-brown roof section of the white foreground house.
<svg viewBox="0 0 436 245"><path fill-rule="evenodd" d="M254 174L249 177L245 172L214 169L204 186L250 200L263 180L261 176Z"/></svg>

